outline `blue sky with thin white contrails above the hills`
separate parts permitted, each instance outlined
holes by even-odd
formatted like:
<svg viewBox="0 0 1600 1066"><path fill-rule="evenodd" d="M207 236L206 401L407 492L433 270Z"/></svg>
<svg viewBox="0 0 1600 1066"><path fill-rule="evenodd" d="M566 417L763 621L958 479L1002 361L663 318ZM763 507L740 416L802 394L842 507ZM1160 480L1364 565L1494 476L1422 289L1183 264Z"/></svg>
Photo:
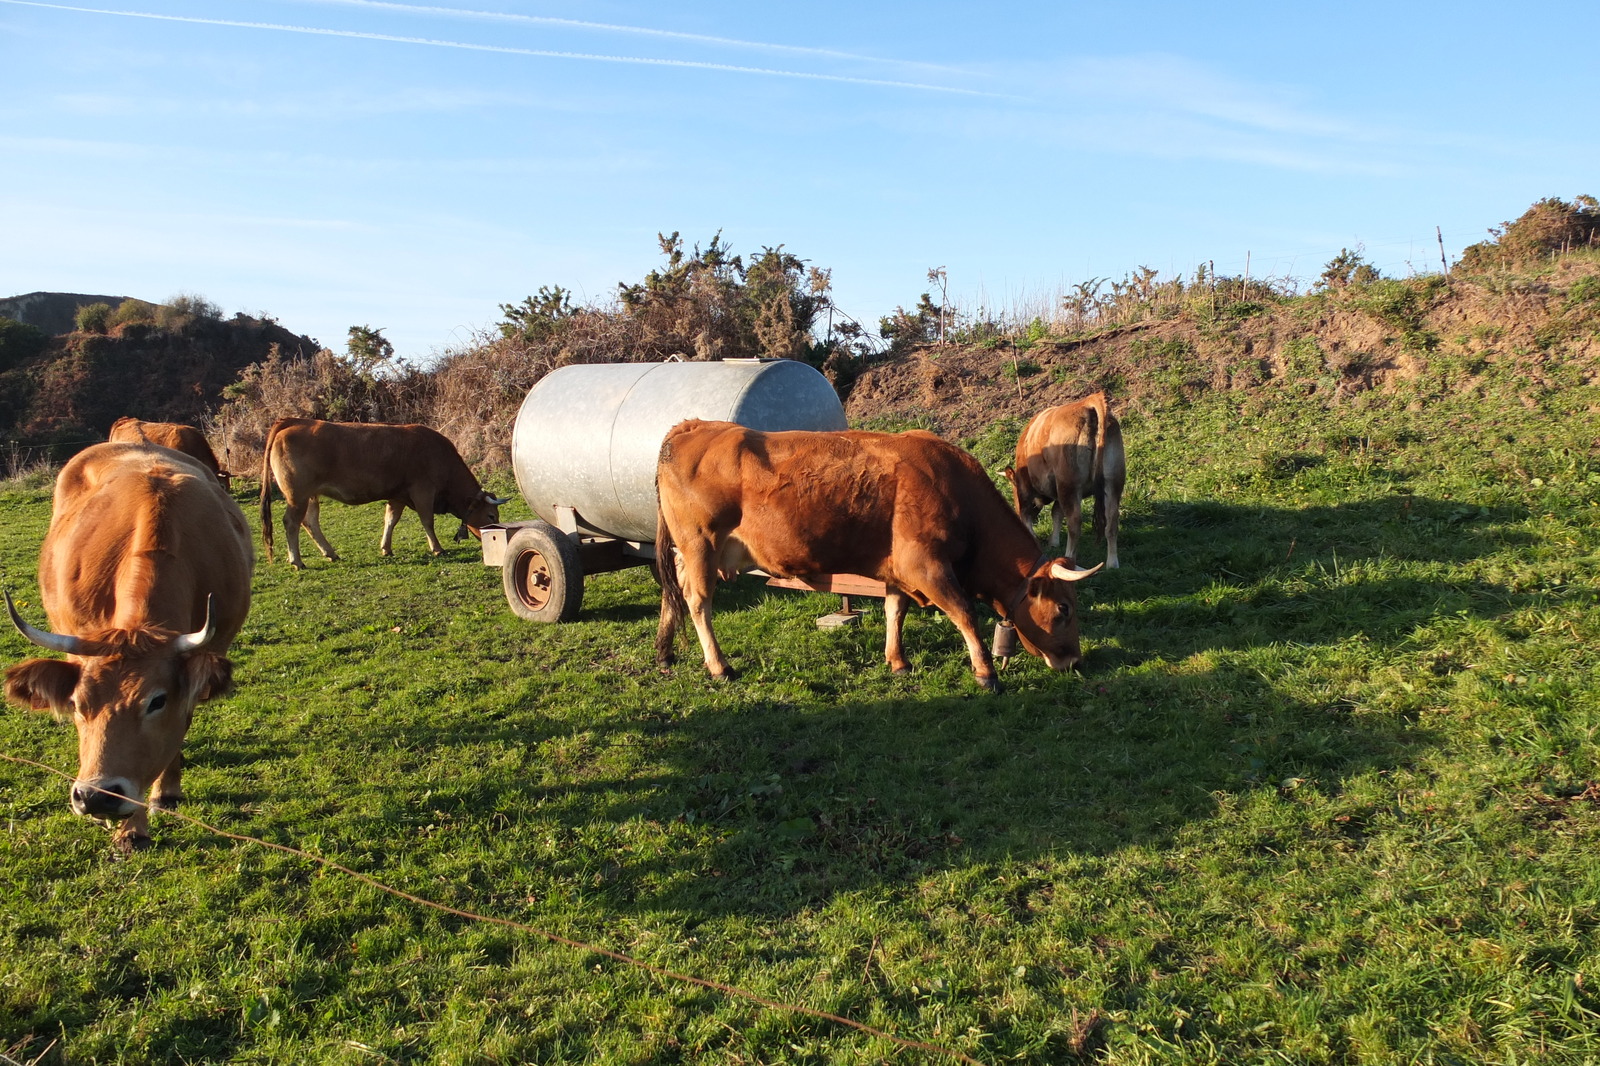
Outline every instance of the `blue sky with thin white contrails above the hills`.
<svg viewBox="0 0 1600 1066"><path fill-rule="evenodd" d="M0 296L195 293L427 360L658 232L874 323L1139 266L1438 267L1600 194L1595 6L0 0Z"/></svg>

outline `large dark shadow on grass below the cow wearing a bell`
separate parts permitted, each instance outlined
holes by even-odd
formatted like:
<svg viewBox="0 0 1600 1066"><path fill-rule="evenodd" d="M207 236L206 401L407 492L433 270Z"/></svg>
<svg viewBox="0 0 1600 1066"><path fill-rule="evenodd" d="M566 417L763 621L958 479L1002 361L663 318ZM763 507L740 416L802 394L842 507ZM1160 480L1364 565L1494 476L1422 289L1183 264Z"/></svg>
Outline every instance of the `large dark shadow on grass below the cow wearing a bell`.
<svg viewBox="0 0 1600 1066"><path fill-rule="evenodd" d="M998 698L750 699L661 722L669 773L547 800L578 824L682 826L702 844L626 858L579 845L546 872L618 909L781 916L941 869L1165 847L1216 815L1218 792L1338 792L1437 743L1242 671L1051 680Z"/></svg>

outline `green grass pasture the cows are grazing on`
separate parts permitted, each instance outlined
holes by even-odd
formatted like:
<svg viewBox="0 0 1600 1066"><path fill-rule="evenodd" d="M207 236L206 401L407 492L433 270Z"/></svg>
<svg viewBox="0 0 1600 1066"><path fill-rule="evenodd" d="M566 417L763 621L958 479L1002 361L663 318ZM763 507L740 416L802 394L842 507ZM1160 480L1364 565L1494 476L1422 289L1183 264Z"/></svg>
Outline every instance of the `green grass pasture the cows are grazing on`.
<svg viewBox="0 0 1600 1066"><path fill-rule="evenodd" d="M645 570L533 626L475 543L328 504L342 562L258 562L184 813L984 1063L1595 1061L1595 399L1130 411L1083 669L998 696L934 611L896 679L878 605L749 578L742 677L662 675ZM34 619L48 512L0 495ZM0 752L77 754L13 707ZM0 1063L957 1061L171 816L112 861L66 791L0 762Z"/></svg>

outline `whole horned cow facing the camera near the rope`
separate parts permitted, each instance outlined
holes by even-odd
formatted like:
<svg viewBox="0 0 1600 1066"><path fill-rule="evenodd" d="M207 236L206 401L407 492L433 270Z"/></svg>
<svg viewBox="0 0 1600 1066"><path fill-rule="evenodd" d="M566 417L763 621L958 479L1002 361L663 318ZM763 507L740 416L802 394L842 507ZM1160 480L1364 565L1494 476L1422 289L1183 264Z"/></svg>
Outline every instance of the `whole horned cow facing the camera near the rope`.
<svg viewBox="0 0 1600 1066"><path fill-rule="evenodd" d="M149 443L80 451L56 479L38 589L50 632L13 624L66 659L5 672L5 695L72 717L72 810L120 823L118 850L150 842L149 812L182 799L182 743L195 704L232 687L227 645L250 611L250 525L216 477Z"/></svg>

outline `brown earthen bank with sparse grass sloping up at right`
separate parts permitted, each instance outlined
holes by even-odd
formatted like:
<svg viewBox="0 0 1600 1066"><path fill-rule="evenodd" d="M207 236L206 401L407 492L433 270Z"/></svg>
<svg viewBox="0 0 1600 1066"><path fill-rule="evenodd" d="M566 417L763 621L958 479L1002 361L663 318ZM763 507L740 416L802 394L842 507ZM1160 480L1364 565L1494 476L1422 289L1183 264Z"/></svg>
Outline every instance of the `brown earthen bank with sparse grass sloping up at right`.
<svg viewBox="0 0 1600 1066"><path fill-rule="evenodd" d="M966 323L946 344L862 367L846 410L856 424L963 439L1094 389L1144 413L1234 392L1256 408L1312 400L1376 415L1462 392L1526 407L1597 381L1600 253L1576 251L1310 293L1173 280L1110 299L1075 327Z"/></svg>

